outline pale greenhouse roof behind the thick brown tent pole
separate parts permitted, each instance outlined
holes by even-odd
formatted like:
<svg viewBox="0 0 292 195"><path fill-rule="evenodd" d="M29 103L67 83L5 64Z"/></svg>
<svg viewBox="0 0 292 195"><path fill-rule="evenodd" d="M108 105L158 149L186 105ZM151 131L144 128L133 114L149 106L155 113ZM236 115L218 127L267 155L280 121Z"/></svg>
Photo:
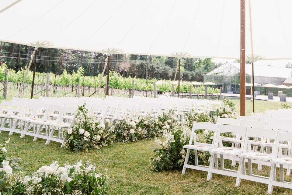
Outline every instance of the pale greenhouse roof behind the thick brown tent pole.
<svg viewBox="0 0 292 195"><path fill-rule="evenodd" d="M239 74L240 63L226 62L206 75L228 75ZM282 68L275 66L254 65L254 76L287 78L291 76L291 68ZM252 75L252 64L245 64L245 73Z"/></svg>

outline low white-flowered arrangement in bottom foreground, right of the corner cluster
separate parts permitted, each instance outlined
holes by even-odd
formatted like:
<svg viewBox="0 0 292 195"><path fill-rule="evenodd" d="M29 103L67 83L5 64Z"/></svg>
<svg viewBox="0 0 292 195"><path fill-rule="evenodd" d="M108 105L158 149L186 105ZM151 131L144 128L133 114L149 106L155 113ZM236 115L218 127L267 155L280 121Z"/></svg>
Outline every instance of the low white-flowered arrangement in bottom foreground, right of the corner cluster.
<svg viewBox="0 0 292 195"><path fill-rule="evenodd" d="M96 170L96 165L86 161L59 166L55 161L51 165L40 167L32 176L25 176L22 183L27 195L57 194L106 194L107 173Z"/></svg>

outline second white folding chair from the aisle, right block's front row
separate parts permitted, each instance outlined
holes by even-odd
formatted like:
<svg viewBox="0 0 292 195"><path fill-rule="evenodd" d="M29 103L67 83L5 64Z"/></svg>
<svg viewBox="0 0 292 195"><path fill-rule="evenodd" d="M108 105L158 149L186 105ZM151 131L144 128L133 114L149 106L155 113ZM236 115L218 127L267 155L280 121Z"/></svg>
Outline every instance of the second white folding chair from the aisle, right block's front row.
<svg viewBox="0 0 292 195"><path fill-rule="evenodd" d="M224 168L224 156L229 156L231 159L236 157L238 154L241 154L243 148L235 148L235 147L223 147L223 142L221 139L221 133L236 133L240 135L243 139L240 141L240 144L244 142L245 134L246 134L247 127L241 127L236 125L219 125L218 133L215 138L215 147L214 149L210 150L209 153L211 154L210 166L207 175L207 181L212 179L212 174L220 174L225 176L236 177L237 172L235 170ZM220 169L214 168L215 161L217 161L217 155L220 155Z"/></svg>

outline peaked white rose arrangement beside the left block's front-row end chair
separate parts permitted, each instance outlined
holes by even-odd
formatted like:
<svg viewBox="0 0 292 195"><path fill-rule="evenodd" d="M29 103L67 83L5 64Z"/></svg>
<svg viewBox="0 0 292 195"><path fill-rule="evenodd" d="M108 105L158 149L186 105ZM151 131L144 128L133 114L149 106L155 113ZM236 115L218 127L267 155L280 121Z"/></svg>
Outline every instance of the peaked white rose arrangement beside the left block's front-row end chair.
<svg viewBox="0 0 292 195"><path fill-rule="evenodd" d="M112 145L115 136L110 128L110 121L101 123L89 114L85 105L78 106L74 126L64 131L65 147L72 151L83 151L91 148Z"/></svg>

